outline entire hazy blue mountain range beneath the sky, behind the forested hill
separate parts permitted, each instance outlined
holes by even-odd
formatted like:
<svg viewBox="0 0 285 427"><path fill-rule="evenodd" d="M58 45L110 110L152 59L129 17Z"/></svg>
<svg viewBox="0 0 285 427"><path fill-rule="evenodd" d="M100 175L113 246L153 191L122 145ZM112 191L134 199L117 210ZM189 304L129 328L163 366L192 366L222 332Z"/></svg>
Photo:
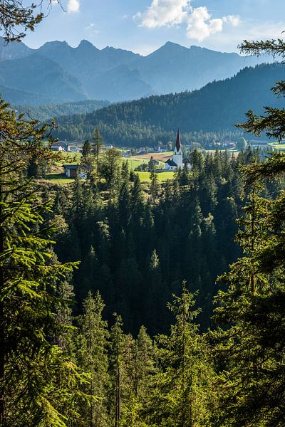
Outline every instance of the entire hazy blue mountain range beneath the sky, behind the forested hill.
<svg viewBox="0 0 285 427"><path fill-rule="evenodd" d="M134 100L201 88L263 60L170 42L140 56L111 47L100 50L84 40L76 48L53 41L31 49L1 39L0 93L9 102L30 105Z"/></svg>

